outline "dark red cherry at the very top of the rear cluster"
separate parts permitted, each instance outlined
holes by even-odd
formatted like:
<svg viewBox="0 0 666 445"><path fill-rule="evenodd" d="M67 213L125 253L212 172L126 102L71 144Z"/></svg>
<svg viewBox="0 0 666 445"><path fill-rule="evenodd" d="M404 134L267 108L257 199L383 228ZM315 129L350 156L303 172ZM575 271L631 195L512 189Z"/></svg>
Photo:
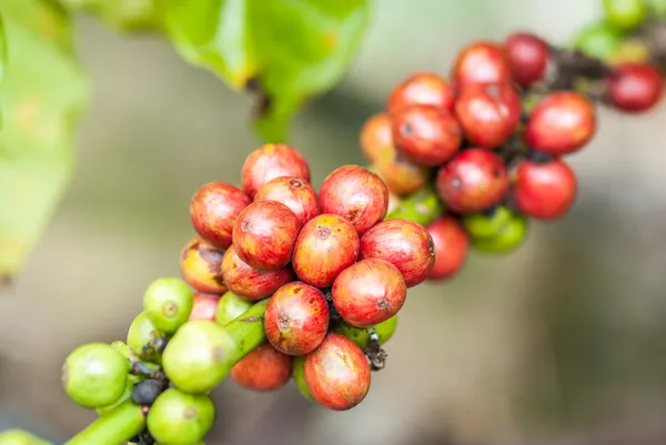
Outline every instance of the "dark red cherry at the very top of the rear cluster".
<svg viewBox="0 0 666 445"><path fill-rule="evenodd" d="M549 57L546 42L531 32L516 32L504 44L517 84L526 89L545 78Z"/></svg>

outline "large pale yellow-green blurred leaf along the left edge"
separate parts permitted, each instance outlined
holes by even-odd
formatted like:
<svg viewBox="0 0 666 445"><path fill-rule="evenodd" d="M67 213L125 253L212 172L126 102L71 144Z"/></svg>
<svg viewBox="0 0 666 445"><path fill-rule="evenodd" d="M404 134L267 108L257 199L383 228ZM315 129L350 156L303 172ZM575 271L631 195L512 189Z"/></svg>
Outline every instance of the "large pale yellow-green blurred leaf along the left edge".
<svg viewBox="0 0 666 445"><path fill-rule="evenodd" d="M49 0L0 0L0 276L27 261L72 173L74 127L89 98L67 13Z"/></svg>

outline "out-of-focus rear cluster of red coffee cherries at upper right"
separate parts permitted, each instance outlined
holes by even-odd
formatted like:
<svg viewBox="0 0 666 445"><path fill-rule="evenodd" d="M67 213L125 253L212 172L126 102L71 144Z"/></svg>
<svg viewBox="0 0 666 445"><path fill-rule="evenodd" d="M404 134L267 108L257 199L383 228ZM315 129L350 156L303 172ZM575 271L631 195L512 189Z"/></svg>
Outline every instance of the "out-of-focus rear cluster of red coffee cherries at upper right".
<svg viewBox="0 0 666 445"><path fill-rule="evenodd" d="M662 73L649 63L604 65L597 97L552 87L565 71L576 73L572 60L591 62L527 32L476 41L458 53L450 78L415 73L363 125L362 151L390 192L432 186L445 208L426 227L436 251L430 280L453 276L470 247L512 251L531 219L567 213L577 181L566 156L593 139L596 99L636 113L662 97Z"/></svg>

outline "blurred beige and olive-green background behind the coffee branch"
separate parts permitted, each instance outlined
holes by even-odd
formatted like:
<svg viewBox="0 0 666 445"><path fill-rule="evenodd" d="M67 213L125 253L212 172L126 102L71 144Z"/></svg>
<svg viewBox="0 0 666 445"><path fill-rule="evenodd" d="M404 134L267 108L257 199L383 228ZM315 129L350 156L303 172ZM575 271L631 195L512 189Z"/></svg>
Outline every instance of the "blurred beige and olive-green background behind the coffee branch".
<svg viewBox="0 0 666 445"><path fill-rule="evenodd" d="M319 186L365 163L357 135L393 85L447 73L474 39L533 30L566 42L598 0L382 0L344 81L311 103L292 143ZM250 99L191 68L168 43L77 24L94 80L67 198L16 285L0 297L0 431L57 443L95 418L60 385L67 354L125 337L154 279L179 274L204 182L238 183L259 145ZM571 159L579 198L564 220L532 225L507 256L472 254L443 284L410 291L389 364L363 404L333 413L293 383L214 394L208 445L656 445L666 443L666 107L602 110Z"/></svg>

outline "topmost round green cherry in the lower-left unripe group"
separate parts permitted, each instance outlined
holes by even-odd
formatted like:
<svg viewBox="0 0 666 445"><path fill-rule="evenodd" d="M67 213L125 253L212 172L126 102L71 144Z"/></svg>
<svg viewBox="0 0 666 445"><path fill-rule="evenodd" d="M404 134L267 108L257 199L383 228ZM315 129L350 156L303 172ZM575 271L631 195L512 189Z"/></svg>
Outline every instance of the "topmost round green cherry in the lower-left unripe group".
<svg viewBox="0 0 666 445"><path fill-rule="evenodd" d="M155 327L165 334L173 334L188 321L193 304L192 290L176 277L158 279L143 294L143 311Z"/></svg>

